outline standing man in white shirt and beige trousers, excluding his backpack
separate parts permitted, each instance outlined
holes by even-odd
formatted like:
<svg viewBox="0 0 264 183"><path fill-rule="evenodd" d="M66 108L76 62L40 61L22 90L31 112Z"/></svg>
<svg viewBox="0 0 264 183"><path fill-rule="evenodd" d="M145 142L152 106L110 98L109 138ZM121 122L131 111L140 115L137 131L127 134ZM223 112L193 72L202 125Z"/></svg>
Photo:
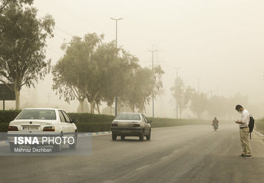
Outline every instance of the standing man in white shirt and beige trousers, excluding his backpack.
<svg viewBox="0 0 264 183"><path fill-rule="evenodd" d="M237 105L236 111L242 113L240 120L236 120L239 124L240 142L242 145L242 154L239 157L251 158L251 150L249 144L249 111L242 106Z"/></svg>

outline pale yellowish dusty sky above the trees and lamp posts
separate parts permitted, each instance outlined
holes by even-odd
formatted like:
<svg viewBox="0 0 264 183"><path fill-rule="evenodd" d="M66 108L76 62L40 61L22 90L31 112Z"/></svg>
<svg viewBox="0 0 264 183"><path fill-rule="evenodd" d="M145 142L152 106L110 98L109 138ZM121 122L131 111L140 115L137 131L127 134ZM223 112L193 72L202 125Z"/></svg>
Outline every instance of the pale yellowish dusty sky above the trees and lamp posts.
<svg viewBox="0 0 264 183"><path fill-rule="evenodd" d="M264 102L264 1L35 0L34 4L40 17L48 13L56 21L55 37L47 42L47 58L53 65L63 56L64 38L69 41L72 35L96 32L114 40L115 22L110 17L123 17L118 22L119 46L147 67L151 66L148 50L158 49L154 63L165 74L164 94L156 101L157 116L174 117L170 88L175 67L181 67L179 76L186 86L197 90L200 78L201 92L213 90L213 95L226 97L240 92L249 95L251 103ZM38 84L38 101L65 104L59 102L51 84L51 76ZM68 110L76 106L78 102L73 102Z"/></svg>

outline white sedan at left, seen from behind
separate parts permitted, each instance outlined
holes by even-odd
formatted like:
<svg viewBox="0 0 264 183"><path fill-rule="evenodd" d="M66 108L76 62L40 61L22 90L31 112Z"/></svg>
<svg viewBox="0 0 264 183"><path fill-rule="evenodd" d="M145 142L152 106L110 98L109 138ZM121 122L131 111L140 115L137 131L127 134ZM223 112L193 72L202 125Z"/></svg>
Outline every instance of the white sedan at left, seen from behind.
<svg viewBox="0 0 264 183"><path fill-rule="evenodd" d="M24 109L8 126L10 150L14 151L19 146L15 143L18 136L31 136L40 141L43 141L43 136L64 139L72 136L72 142L68 144L70 149L75 149L78 132L75 122L76 120L69 118L69 115L62 109ZM62 143L53 143L55 151L60 151L61 148Z"/></svg>

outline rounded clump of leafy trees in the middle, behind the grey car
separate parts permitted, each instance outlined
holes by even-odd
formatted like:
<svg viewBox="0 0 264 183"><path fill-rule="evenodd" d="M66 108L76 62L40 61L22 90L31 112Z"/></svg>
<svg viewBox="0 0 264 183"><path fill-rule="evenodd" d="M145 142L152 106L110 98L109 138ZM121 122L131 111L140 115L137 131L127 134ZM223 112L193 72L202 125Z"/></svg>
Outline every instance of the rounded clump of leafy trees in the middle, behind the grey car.
<svg viewBox="0 0 264 183"><path fill-rule="evenodd" d="M90 113L94 109L100 113L101 102L112 109L117 97L120 106L143 112L150 97L156 97L163 86L160 66L153 71L141 67L136 56L117 48L115 41L105 42L104 35L74 36L61 48L65 54L52 69L52 88L67 102L79 100L81 111L85 99Z"/></svg>

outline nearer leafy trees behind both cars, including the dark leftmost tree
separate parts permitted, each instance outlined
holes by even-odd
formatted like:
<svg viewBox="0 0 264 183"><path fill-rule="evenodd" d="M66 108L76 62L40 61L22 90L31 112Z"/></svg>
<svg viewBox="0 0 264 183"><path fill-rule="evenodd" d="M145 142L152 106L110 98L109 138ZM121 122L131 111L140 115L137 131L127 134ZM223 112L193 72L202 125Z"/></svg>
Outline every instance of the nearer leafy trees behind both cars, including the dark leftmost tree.
<svg viewBox="0 0 264 183"><path fill-rule="evenodd" d="M35 87L51 71L52 89L67 102L90 103L90 113L106 102L113 106L115 97L131 111L144 111L151 96L156 97L163 84L160 66L141 67L129 51L106 42L104 35L87 33L64 42L65 54L51 66L46 59L47 38L53 38L55 21L51 15L38 18L33 0L0 0L0 81L13 83L15 109L20 108L22 86ZM111 108L110 108L111 109Z"/></svg>

